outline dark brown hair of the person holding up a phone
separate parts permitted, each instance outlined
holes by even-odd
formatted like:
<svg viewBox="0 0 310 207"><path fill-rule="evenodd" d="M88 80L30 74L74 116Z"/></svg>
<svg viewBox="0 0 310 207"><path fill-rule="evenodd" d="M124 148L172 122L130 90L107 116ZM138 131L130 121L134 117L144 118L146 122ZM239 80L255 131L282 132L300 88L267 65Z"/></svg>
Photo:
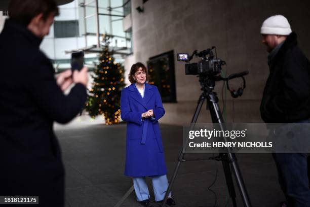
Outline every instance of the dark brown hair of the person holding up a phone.
<svg viewBox="0 0 310 207"><path fill-rule="evenodd" d="M51 14L59 15L54 0L11 0L9 4L9 17L15 22L28 26L31 19L43 13L46 20Z"/></svg>

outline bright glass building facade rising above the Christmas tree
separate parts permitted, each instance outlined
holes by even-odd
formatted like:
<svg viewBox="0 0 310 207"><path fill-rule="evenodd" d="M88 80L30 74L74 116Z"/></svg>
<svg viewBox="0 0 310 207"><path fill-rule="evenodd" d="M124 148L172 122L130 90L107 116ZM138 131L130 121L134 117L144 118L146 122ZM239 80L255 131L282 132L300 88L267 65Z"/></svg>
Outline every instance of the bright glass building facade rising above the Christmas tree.
<svg viewBox="0 0 310 207"><path fill-rule="evenodd" d="M130 54L131 50L131 31L124 31L124 17L131 13L130 1L125 0L97 0L98 1L98 27L99 41L102 35L110 37L110 47L115 51ZM86 34L87 46L96 45L97 35L97 16L96 1L80 0L83 8L83 34Z"/></svg>

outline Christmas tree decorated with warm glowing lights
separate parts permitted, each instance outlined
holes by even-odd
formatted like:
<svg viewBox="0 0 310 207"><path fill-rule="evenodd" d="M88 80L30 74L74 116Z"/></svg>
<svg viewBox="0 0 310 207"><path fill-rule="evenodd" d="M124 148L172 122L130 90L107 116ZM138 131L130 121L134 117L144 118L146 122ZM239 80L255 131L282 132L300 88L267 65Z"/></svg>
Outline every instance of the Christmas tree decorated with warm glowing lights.
<svg viewBox="0 0 310 207"><path fill-rule="evenodd" d="M99 64L95 66L92 89L86 101L86 111L92 118L104 115L105 124L120 122L121 90L124 83L124 67L115 62L113 51L109 51L109 41L103 38L102 52L99 54Z"/></svg>

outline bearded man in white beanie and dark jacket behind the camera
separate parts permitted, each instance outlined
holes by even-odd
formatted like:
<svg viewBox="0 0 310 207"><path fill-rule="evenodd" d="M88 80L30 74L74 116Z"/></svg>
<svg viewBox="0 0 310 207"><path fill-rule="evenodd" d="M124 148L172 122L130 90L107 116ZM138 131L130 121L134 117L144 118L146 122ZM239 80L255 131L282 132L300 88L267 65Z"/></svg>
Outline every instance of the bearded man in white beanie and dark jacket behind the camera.
<svg viewBox="0 0 310 207"><path fill-rule="evenodd" d="M269 52L270 69L260 105L263 121L308 123L310 63L297 46L296 33L292 32L288 20L282 15L267 18L260 33L262 43ZM283 129L286 128L279 131ZM273 154L273 158L277 164L281 188L287 199L287 204L282 206L310 206L306 156L297 153Z"/></svg>

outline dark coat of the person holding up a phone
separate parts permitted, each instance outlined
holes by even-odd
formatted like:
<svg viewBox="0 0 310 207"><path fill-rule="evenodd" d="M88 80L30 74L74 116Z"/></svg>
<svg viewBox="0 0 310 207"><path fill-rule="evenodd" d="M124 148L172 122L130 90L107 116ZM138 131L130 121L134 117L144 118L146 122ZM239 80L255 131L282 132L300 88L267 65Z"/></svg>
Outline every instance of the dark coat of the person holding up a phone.
<svg viewBox="0 0 310 207"><path fill-rule="evenodd" d="M10 20L0 34L0 196L39 196L35 206L56 207L64 205L64 168L53 122L74 118L87 93L76 84L63 94L40 43Z"/></svg>

